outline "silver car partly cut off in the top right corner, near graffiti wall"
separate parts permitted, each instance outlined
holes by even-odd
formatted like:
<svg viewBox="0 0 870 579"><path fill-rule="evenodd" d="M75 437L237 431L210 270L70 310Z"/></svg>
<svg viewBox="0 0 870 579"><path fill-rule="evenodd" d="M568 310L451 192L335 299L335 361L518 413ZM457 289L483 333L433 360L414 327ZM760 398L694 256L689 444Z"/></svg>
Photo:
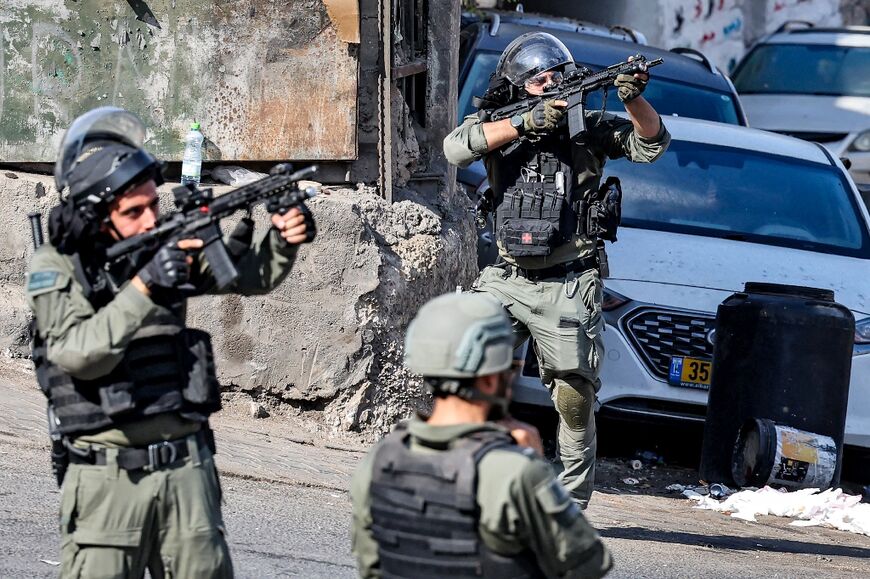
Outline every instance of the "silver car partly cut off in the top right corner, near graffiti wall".
<svg viewBox="0 0 870 579"><path fill-rule="evenodd" d="M870 27L786 23L732 78L750 126L821 143L870 183Z"/></svg>

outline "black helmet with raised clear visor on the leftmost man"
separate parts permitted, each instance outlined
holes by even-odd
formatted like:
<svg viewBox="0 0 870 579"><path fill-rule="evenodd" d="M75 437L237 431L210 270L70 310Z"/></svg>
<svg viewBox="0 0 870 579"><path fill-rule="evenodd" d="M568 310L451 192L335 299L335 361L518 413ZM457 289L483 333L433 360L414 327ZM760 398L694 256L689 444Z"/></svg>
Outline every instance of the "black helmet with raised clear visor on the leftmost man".
<svg viewBox="0 0 870 579"><path fill-rule="evenodd" d="M161 164L142 148L144 140L142 121L124 109L100 107L76 118L54 166L61 199L105 214L131 186L148 179L162 184Z"/></svg>

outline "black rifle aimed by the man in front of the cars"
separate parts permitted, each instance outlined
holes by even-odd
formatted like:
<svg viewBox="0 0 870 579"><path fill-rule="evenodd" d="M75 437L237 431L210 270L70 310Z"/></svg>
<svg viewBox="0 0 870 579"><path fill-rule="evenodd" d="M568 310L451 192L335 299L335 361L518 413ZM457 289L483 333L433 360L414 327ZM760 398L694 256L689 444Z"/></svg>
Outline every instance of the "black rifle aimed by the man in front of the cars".
<svg viewBox="0 0 870 579"><path fill-rule="evenodd" d="M598 72L592 72L585 66L571 65L571 70L565 73L565 78L557 89L491 111L482 110L481 120L487 122L509 119L514 115L521 115L532 110L541 101L550 99L563 100L568 102L566 107L568 134L574 139L586 130L586 95L590 92L613 86L613 81L620 74L634 75L647 72L650 68L660 65L662 62L664 61L661 58L647 60L645 56L638 54L630 60L608 66ZM476 102L482 101L477 99ZM528 137L523 136L515 142L520 143L527 139Z"/></svg>

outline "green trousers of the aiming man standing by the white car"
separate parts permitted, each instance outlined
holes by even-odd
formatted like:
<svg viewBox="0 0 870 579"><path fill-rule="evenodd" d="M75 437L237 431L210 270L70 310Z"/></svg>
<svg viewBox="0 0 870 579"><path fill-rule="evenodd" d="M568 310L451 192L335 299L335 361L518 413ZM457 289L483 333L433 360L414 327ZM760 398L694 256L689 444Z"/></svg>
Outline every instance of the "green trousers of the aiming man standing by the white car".
<svg viewBox="0 0 870 579"><path fill-rule="evenodd" d="M595 480L595 393L604 342L598 271L530 281L512 268L487 267L474 289L496 297L514 324L515 344L530 335L541 380L559 412L562 484L581 508Z"/></svg>

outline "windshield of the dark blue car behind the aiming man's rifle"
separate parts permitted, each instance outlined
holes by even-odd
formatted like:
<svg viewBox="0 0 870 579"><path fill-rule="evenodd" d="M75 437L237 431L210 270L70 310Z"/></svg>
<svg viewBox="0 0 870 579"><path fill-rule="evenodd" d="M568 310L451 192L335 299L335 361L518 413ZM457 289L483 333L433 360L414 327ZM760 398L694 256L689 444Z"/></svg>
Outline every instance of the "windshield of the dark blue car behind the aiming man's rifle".
<svg viewBox="0 0 870 579"><path fill-rule="evenodd" d="M459 95L459 112L462 117L477 109L471 102L472 97L482 96L489 84L489 76L495 70L499 53L480 51L474 56L462 92ZM599 67L590 66L597 69ZM587 108L601 108L601 92L589 95ZM678 115L720 123L740 124L737 109L731 95L719 91L705 90L696 86L681 84L652 77L644 91L644 97L661 115ZM616 90L608 91L607 110L624 111Z"/></svg>

